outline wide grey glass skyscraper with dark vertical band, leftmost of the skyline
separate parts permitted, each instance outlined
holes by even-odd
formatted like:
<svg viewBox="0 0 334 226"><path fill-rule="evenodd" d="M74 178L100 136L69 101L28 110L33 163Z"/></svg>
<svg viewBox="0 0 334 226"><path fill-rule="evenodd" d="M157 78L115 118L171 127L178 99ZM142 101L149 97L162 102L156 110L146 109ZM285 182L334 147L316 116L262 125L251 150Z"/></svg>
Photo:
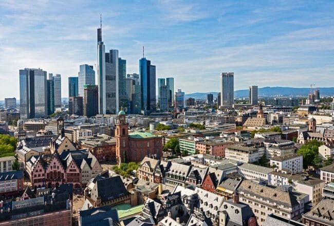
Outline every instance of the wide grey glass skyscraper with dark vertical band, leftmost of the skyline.
<svg viewBox="0 0 334 226"><path fill-rule="evenodd" d="M20 70L20 118L43 118L47 115L46 71Z"/></svg>

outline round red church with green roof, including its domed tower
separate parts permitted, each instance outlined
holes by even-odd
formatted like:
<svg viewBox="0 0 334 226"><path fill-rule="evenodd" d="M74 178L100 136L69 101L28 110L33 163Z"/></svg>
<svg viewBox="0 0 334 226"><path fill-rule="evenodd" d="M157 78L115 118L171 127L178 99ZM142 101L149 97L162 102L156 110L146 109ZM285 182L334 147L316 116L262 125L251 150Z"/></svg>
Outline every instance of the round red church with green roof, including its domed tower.
<svg viewBox="0 0 334 226"><path fill-rule="evenodd" d="M116 160L121 162L140 162L145 156L162 156L162 138L146 131L128 133L125 112L121 110L116 123Z"/></svg>

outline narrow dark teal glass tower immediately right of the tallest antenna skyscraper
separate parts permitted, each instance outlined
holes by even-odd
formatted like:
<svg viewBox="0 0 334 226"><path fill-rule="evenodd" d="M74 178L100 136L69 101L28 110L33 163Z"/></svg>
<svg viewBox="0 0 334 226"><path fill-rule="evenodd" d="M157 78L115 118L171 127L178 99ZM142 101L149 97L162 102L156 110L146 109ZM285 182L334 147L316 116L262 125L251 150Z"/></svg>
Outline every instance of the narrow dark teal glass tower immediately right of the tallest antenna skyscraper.
<svg viewBox="0 0 334 226"><path fill-rule="evenodd" d="M118 59L119 108L129 113L129 96L126 89L126 60Z"/></svg>

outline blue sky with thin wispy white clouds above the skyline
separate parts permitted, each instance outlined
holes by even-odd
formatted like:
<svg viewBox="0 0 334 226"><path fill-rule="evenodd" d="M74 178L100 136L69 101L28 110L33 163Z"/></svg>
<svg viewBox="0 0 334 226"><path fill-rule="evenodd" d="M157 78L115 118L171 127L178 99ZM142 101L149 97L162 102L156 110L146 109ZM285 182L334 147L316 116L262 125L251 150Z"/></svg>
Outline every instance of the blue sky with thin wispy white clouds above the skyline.
<svg viewBox="0 0 334 226"><path fill-rule="evenodd" d="M138 60L175 90L219 90L234 72L234 89L250 85L334 86L334 1L2 1L0 100L20 97L18 70L42 68L68 77L97 63L97 31L118 49L127 73ZM97 80L96 80L97 81Z"/></svg>

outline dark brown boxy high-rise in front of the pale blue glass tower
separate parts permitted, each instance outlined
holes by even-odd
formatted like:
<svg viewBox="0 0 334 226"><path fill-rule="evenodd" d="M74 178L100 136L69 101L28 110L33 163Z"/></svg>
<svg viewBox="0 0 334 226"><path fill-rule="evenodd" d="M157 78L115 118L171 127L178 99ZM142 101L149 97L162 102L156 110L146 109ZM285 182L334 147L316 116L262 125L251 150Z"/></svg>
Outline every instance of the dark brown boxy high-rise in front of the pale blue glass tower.
<svg viewBox="0 0 334 226"><path fill-rule="evenodd" d="M99 87L84 85L83 114L92 117L99 114Z"/></svg>

